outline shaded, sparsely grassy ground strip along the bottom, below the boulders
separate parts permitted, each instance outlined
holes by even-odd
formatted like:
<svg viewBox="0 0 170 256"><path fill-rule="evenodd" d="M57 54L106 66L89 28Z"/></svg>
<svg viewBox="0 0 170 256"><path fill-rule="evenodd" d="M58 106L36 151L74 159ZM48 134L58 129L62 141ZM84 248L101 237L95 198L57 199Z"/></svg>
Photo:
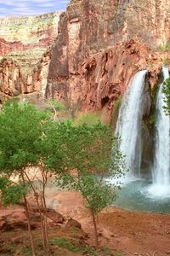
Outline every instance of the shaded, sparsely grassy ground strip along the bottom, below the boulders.
<svg viewBox="0 0 170 256"><path fill-rule="evenodd" d="M103 246L99 247L99 250L95 250L94 247L88 246L85 241L76 236L72 238L71 233L65 230L64 234L59 230L59 234L56 234L56 230L51 230L49 233L49 251L42 246L41 233L40 230L33 231L34 234L34 244L37 256L122 256L115 252L113 248ZM77 232L78 230L73 230ZM61 235L62 234L62 235ZM21 236L20 236L21 235ZM19 255L19 256L31 256L31 245L29 237L26 231L20 233L20 231L14 232L14 236L18 239L16 241L11 241L8 232L5 232L5 236L0 243L0 255ZM8 239L9 238L9 239Z"/></svg>

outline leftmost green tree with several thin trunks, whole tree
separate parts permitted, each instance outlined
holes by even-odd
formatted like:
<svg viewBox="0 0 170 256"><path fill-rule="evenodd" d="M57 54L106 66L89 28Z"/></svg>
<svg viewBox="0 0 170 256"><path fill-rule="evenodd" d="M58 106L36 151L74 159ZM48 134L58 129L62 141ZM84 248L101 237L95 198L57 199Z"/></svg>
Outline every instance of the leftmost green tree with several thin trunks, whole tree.
<svg viewBox="0 0 170 256"><path fill-rule="evenodd" d="M1 177L8 177L9 183L11 183L11 177L18 177L19 179L17 184L10 184L5 189L2 187L3 202L5 204L14 203L14 201L20 199L21 195L23 196L33 255L35 255L35 248L31 234L28 201L26 199L28 183L34 195L36 195L38 209L40 209L40 206L34 182L28 174L28 167L39 166L40 171L42 171L42 199L43 207L45 207L44 186L47 183L47 175L43 172L42 151L38 147L38 143L41 143L44 135L43 126L48 123L48 120L46 113L37 110L30 104L5 102L0 112L0 174ZM12 196L14 191L17 192L16 200ZM48 247L47 224L43 223L43 219L46 221L46 217L43 218L41 211L39 212L42 220L42 240L44 246Z"/></svg>

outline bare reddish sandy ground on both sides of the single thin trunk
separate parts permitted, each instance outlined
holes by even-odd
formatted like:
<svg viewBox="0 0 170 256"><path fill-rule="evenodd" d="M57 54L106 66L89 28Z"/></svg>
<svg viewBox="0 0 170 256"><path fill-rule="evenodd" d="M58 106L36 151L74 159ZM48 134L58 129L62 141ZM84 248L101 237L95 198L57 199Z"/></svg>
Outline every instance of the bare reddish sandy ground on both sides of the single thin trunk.
<svg viewBox="0 0 170 256"><path fill-rule="evenodd" d="M65 218L75 218L94 245L93 225L82 196L74 191L50 189L48 206ZM157 213L128 212L110 207L98 216L100 245L116 249L122 255L170 255L170 216ZM125 253L125 254L123 254Z"/></svg>

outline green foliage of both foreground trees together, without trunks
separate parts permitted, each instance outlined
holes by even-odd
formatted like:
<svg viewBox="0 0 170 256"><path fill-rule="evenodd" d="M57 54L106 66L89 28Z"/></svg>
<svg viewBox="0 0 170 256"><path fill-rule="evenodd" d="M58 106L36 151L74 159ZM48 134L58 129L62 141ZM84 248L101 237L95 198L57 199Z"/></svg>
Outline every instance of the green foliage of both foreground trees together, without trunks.
<svg viewBox="0 0 170 256"><path fill-rule="evenodd" d="M111 205L117 186L105 177L120 177L125 170L117 150L119 138L107 125L72 125L53 122L30 104L5 103L0 113L0 172L24 178L27 166L54 172L62 188L80 191L94 213ZM26 195L25 185L0 179L5 204Z"/></svg>

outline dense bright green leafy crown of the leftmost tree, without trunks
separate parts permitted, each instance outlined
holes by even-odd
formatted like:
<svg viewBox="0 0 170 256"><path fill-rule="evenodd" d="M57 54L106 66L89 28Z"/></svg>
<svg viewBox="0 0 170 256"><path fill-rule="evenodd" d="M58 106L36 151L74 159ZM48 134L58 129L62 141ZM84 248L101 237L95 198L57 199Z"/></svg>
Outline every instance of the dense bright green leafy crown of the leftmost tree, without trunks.
<svg viewBox="0 0 170 256"><path fill-rule="evenodd" d="M20 170L36 165L37 140L42 136L42 122L48 115L30 104L6 102L0 113L0 169Z"/></svg>

